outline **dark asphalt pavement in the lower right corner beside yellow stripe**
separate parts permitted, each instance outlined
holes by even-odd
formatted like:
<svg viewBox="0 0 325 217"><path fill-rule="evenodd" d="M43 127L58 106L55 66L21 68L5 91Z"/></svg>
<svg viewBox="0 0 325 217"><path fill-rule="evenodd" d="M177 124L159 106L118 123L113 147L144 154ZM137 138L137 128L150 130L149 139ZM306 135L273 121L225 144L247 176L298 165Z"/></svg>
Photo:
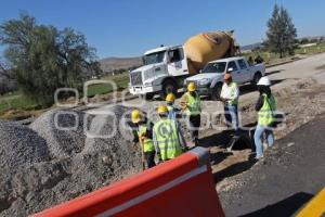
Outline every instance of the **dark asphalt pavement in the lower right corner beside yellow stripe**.
<svg viewBox="0 0 325 217"><path fill-rule="evenodd" d="M226 216L291 216L325 188L324 135L325 114L277 141L236 180L244 187L220 195Z"/></svg>

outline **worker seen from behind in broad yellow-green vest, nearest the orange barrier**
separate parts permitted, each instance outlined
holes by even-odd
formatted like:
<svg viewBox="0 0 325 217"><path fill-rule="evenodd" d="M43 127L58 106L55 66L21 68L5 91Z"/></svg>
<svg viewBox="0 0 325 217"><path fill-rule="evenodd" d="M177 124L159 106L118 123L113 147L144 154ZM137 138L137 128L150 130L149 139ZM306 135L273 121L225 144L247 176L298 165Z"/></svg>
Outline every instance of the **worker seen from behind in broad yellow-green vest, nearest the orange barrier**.
<svg viewBox="0 0 325 217"><path fill-rule="evenodd" d="M185 141L176 120L168 118L166 105L158 107L159 120L153 130L154 144L159 161L169 161L183 153Z"/></svg>

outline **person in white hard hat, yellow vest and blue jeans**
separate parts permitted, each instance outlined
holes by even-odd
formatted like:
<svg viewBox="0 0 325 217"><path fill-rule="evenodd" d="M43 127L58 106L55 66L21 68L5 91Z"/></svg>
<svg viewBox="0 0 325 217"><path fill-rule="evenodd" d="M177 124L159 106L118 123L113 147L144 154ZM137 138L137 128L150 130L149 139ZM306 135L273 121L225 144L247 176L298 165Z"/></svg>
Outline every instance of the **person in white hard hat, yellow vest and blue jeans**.
<svg viewBox="0 0 325 217"><path fill-rule="evenodd" d="M255 130L253 141L256 145L256 158L263 157L262 135L265 132L268 144L265 148L272 146L274 143L273 125L275 123L276 100L270 89L271 81L265 77L261 77L257 87L260 92L259 100L256 104L258 112L258 125Z"/></svg>

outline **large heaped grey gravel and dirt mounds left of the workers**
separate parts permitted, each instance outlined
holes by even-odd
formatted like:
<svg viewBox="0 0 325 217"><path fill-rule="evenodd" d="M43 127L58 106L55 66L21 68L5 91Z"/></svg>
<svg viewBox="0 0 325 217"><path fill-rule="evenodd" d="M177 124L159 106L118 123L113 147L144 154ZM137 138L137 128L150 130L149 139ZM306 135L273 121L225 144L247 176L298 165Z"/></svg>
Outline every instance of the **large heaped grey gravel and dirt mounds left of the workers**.
<svg viewBox="0 0 325 217"><path fill-rule="evenodd" d="M30 127L0 122L0 216L37 213L140 171L130 108L106 112L54 110Z"/></svg>

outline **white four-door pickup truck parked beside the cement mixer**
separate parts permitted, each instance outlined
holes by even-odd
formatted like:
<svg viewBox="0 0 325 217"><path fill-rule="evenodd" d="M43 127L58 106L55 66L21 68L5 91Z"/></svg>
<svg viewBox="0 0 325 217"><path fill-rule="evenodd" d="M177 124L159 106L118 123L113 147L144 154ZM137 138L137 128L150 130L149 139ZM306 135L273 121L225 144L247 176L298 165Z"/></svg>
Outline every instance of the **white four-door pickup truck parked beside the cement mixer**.
<svg viewBox="0 0 325 217"><path fill-rule="evenodd" d="M211 61L200 74L186 78L184 86L194 81L200 95L219 100L225 73L231 73L233 80L238 85L246 82L256 85L265 75L265 65L263 63L249 65L245 58L239 56Z"/></svg>

